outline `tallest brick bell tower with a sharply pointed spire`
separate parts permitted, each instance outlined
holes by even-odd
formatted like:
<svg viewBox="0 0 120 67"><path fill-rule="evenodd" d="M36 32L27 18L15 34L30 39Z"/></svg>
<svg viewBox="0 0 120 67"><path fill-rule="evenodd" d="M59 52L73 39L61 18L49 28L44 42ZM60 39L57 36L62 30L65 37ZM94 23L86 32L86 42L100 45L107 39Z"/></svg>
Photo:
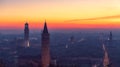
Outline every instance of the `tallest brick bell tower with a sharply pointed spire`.
<svg viewBox="0 0 120 67"><path fill-rule="evenodd" d="M41 64L42 67L49 67L50 66L50 49L49 49L49 44L50 44L50 37L47 29L47 24L45 21L44 24L44 29L42 32L42 37L41 37Z"/></svg>

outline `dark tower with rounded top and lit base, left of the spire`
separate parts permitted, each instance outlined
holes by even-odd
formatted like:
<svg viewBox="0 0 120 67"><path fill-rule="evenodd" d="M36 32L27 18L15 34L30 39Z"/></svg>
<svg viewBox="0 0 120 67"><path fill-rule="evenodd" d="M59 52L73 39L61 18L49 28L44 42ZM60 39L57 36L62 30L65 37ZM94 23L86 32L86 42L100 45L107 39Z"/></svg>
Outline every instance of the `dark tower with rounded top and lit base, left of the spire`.
<svg viewBox="0 0 120 67"><path fill-rule="evenodd" d="M24 41L25 41L25 47L29 47L29 25L28 23L25 23L25 28L24 28Z"/></svg>

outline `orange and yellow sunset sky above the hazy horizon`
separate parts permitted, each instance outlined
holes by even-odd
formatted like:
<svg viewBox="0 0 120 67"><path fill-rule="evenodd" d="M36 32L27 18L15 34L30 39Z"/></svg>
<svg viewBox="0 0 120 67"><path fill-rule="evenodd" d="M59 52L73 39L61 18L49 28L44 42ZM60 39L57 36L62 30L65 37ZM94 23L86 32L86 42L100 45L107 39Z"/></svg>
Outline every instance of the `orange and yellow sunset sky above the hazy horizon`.
<svg viewBox="0 0 120 67"><path fill-rule="evenodd" d="M0 0L0 29L120 28L120 0Z"/></svg>

